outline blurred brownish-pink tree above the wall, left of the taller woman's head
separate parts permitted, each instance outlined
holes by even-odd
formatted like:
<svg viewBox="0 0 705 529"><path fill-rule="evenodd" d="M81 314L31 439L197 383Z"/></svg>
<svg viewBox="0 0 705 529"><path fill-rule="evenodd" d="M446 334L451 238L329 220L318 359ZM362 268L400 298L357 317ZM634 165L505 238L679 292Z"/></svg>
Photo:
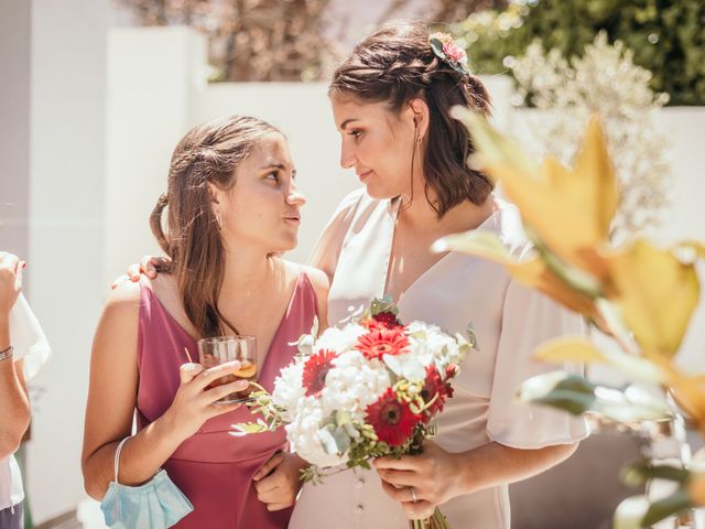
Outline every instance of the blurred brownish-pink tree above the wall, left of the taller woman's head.
<svg viewBox="0 0 705 529"><path fill-rule="evenodd" d="M116 0L142 25L208 35L213 80L315 80L335 62L324 34L329 0Z"/></svg>

